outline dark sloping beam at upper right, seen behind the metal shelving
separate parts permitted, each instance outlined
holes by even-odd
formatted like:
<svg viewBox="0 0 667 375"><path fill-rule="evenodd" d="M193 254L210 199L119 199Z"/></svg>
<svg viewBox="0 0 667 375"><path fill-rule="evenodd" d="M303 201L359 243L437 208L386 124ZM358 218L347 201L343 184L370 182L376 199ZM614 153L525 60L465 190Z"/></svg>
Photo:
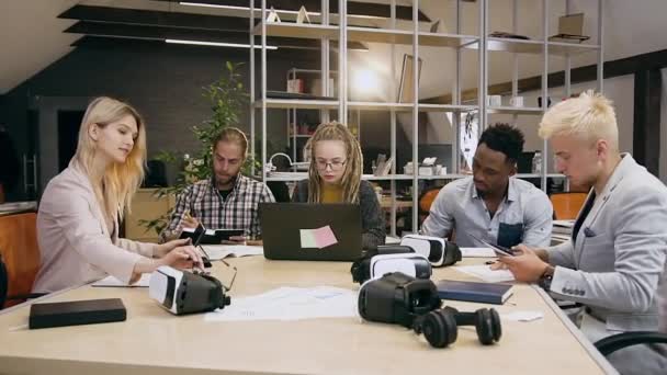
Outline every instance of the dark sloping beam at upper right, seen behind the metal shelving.
<svg viewBox="0 0 667 375"><path fill-rule="evenodd" d="M667 67L667 49L656 50L653 53L635 55L632 57L621 58L611 61L604 61L603 71L604 79L614 78L625 75L634 75L638 71L662 69ZM579 68L574 68L570 71L570 83L590 82L597 79L597 65L587 65ZM565 84L565 71L557 71L549 75L549 87L557 88ZM519 92L536 91L542 89L542 76L534 76L520 79L517 82ZM512 92L511 82L496 83L488 87L489 95L504 95ZM474 101L477 99L477 89L468 89L461 92L461 101ZM450 104L452 95L438 95L423 100L423 103L430 104Z"/></svg>

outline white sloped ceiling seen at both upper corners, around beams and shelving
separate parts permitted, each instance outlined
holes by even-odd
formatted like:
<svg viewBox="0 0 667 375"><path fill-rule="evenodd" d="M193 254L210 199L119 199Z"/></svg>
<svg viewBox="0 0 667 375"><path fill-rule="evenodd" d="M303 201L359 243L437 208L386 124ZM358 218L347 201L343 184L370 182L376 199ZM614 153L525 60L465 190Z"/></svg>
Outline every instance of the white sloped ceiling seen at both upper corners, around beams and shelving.
<svg viewBox="0 0 667 375"><path fill-rule="evenodd" d="M368 0L370 2L385 2L388 0ZM489 1L489 29L511 31L511 4L513 0ZM540 0L516 0L519 4L519 33L540 37L542 33ZM665 0L603 0L604 1L604 59L618 59L637 54L649 53L667 48L667 1ZM64 34L75 21L60 20L57 15L76 3L100 4L108 7L159 9L172 11L189 11L197 13L222 14L219 10L197 9L193 7L174 7L170 3L149 0L2 0L0 1L0 50L2 52L2 66L0 68L0 93L5 93L30 77L34 76L49 64L65 56L71 50L69 44L79 36ZM411 1L397 1L399 4L409 4ZM453 0L421 0L419 8L431 19L442 19L445 30L454 32ZM564 13L565 0L551 0L550 14L552 32L555 33L557 16ZM597 14L597 0L570 0L572 11L586 13L585 33L596 35L595 18ZM464 7L463 33L477 31L477 3L462 3ZM177 8L177 9L174 9ZM535 16L538 15L538 16ZM402 27L409 25L402 23ZM404 53L409 48L397 47L395 60L400 63ZM372 45L370 53L352 54L362 66L365 64L376 68L382 76L391 71L386 64L389 47L386 45ZM420 96L428 98L449 93L452 87L453 53L445 49L422 49L423 70ZM490 57L489 78L491 82L507 81L511 78L511 55L494 54ZM595 54L575 58L573 65L581 66L595 61ZM464 54L464 88L476 86L476 53ZM542 67L538 57L521 57L519 60L521 77L539 75ZM563 69L559 59L550 60L552 69Z"/></svg>

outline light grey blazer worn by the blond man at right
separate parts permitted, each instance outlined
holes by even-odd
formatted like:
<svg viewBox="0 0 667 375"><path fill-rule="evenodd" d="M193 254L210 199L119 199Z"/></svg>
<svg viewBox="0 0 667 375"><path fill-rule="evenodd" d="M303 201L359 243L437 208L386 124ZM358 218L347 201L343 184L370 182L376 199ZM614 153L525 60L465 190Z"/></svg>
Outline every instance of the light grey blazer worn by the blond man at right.
<svg viewBox="0 0 667 375"><path fill-rule="evenodd" d="M608 331L657 330L656 296L667 287L667 188L624 154L575 245L547 251L557 297L588 306Z"/></svg>

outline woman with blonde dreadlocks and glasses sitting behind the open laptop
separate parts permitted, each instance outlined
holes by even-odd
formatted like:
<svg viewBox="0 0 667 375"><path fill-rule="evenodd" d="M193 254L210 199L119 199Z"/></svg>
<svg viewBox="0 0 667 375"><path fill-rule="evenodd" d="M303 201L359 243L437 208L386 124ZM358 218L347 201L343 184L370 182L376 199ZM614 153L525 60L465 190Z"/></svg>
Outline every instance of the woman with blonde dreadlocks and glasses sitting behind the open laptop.
<svg viewBox="0 0 667 375"><path fill-rule="evenodd" d="M361 180L363 159L357 138L342 124L321 124L306 149L310 150L308 180L296 184L292 201L359 204L363 248L383 245L385 224L373 186Z"/></svg>

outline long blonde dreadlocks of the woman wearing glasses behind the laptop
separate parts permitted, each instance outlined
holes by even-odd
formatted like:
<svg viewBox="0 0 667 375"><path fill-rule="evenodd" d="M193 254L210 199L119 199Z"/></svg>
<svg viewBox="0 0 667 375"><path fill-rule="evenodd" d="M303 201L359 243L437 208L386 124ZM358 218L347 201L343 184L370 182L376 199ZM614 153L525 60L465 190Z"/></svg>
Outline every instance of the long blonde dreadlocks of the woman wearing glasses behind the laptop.
<svg viewBox="0 0 667 375"><path fill-rule="evenodd" d="M346 145L346 166L341 178L342 202L359 203L359 186L361 185L361 172L363 170L361 146L359 146L359 141L348 127L339 123L319 125L306 144L306 149L310 152L308 202L320 203L321 198L321 178L317 171L317 160L315 158L316 146L320 140L342 140Z"/></svg>

